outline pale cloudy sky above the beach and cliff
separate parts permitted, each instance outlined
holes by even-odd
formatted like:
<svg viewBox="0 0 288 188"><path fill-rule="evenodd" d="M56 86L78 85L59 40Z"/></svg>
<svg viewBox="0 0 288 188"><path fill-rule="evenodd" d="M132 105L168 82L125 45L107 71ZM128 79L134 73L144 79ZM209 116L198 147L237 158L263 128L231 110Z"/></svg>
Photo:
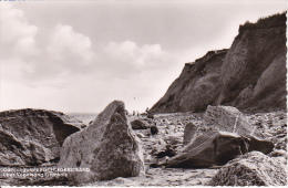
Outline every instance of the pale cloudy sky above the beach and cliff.
<svg viewBox="0 0 288 188"><path fill-rule="evenodd" d="M285 0L0 2L0 109L152 107L186 62L229 48Z"/></svg>

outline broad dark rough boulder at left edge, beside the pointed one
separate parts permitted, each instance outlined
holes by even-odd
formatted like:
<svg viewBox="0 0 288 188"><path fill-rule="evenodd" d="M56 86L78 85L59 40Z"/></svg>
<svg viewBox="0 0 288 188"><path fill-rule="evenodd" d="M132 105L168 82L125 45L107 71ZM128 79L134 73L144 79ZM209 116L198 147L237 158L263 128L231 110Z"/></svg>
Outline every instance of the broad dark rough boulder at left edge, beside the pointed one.
<svg viewBox="0 0 288 188"><path fill-rule="evenodd" d="M63 113L16 109L0 113L0 166L39 165L59 159L63 140L80 125Z"/></svg>

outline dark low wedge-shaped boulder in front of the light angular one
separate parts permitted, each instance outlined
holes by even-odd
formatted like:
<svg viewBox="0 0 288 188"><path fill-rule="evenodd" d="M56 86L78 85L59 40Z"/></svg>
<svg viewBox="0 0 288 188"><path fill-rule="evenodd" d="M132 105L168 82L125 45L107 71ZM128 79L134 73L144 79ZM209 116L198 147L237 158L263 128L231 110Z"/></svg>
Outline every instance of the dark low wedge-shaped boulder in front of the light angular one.
<svg viewBox="0 0 288 188"><path fill-rule="evenodd" d="M182 153L156 166L171 168L207 168L225 165L236 156L247 153L245 139L228 132L212 132L198 136Z"/></svg>

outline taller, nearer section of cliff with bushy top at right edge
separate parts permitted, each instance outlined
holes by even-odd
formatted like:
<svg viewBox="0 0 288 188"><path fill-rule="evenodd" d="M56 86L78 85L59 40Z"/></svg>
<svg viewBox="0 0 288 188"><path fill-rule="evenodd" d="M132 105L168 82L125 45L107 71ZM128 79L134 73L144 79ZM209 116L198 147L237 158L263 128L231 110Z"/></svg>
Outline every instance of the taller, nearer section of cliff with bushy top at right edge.
<svg viewBox="0 0 288 188"><path fill-rule="evenodd" d="M217 104L286 107L286 53L285 14L240 27L222 69Z"/></svg>

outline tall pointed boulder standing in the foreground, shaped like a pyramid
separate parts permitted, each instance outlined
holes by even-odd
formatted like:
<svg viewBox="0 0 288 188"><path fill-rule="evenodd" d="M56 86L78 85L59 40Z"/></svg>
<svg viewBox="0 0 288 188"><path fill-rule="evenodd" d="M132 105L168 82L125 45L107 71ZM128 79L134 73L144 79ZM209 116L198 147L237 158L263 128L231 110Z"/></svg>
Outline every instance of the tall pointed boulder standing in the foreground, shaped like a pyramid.
<svg viewBox="0 0 288 188"><path fill-rule="evenodd" d="M110 103L89 127L69 136L58 166L89 169L69 171L68 178L75 182L143 175L142 147L127 122L124 103Z"/></svg>

